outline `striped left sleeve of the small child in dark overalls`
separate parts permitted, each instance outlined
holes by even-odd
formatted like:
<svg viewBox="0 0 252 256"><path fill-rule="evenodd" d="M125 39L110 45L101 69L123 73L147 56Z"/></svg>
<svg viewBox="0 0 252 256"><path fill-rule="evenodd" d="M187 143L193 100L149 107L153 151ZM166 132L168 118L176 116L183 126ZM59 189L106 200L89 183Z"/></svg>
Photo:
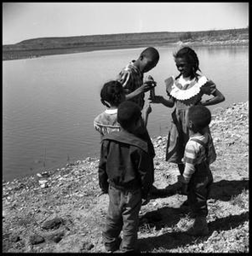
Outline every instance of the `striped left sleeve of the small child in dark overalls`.
<svg viewBox="0 0 252 256"><path fill-rule="evenodd" d="M185 183L189 183L192 177L192 174L195 172L195 164L197 160L197 152L195 147L193 146L193 142L188 142L185 148L184 154L184 164L185 164L185 171L183 173L183 177L185 179Z"/></svg>

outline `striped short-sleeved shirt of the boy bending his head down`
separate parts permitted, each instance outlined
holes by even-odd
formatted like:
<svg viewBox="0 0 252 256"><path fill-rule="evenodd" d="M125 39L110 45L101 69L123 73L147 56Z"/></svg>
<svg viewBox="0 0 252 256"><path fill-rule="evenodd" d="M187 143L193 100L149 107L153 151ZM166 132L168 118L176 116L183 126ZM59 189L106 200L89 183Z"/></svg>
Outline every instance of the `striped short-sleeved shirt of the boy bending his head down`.
<svg viewBox="0 0 252 256"><path fill-rule="evenodd" d="M143 84L143 73L135 67L135 61L131 61L123 70L117 75L117 80L123 84L123 88L126 94L129 94L136 89L138 89ZM144 92L134 98L130 99L130 101L138 104L140 109L144 107L145 101Z"/></svg>

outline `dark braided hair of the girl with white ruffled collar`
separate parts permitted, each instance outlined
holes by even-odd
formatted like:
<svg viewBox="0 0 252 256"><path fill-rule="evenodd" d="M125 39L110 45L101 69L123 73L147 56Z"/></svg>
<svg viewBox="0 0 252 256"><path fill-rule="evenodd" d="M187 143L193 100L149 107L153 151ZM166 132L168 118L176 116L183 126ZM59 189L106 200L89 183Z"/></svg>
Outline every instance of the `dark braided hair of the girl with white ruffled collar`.
<svg viewBox="0 0 252 256"><path fill-rule="evenodd" d="M188 63L192 64L192 76L198 79L198 73L197 71L201 70L199 69L199 61L198 61L198 55L196 52L190 48L190 47L183 47L177 53L174 54L175 59L177 58L185 58Z"/></svg>

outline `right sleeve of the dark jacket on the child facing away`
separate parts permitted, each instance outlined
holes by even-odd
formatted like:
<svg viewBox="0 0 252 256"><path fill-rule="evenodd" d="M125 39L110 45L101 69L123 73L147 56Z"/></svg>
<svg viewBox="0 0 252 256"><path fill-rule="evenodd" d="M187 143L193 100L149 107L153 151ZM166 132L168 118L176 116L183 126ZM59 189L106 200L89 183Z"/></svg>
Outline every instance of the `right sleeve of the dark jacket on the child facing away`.
<svg viewBox="0 0 252 256"><path fill-rule="evenodd" d="M142 197L146 199L151 187L153 180L154 166L152 162L152 157L146 152L140 151L139 154L139 164L138 172L140 174L141 192Z"/></svg>

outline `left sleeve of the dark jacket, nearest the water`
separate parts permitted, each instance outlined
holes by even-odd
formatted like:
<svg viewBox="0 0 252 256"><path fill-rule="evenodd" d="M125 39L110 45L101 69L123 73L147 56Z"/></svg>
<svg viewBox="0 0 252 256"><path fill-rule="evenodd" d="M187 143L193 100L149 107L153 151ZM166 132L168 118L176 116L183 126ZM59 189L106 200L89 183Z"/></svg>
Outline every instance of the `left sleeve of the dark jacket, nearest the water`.
<svg viewBox="0 0 252 256"><path fill-rule="evenodd" d="M106 143L101 143L100 148L100 162L99 162L99 169L98 169L98 176L99 176L99 185L100 189L107 193L108 191L108 176L106 173L106 160L107 160L107 152L106 152Z"/></svg>

